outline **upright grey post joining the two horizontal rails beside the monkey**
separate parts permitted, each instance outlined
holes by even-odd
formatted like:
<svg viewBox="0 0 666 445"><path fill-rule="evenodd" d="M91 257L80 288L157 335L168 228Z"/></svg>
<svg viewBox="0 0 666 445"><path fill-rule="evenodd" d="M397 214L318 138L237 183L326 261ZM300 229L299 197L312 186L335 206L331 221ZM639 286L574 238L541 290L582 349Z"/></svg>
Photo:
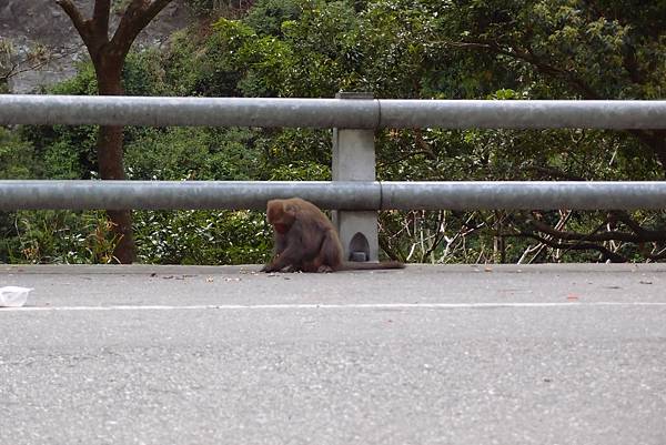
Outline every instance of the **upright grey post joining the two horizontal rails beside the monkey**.
<svg viewBox="0 0 666 445"><path fill-rule="evenodd" d="M373 101L372 93L337 93L336 99ZM376 122L379 124L379 105ZM374 130L333 129L333 181L374 181ZM333 212L333 224L347 261L379 261L376 211Z"/></svg>

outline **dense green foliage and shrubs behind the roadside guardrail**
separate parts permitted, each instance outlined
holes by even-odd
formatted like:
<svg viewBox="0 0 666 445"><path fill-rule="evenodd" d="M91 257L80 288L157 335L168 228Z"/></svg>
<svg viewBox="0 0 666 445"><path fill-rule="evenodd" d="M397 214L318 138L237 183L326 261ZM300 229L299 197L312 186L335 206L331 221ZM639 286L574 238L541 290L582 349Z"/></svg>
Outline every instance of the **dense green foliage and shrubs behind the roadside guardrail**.
<svg viewBox="0 0 666 445"><path fill-rule="evenodd" d="M128 94L414 99L665 99L666 3L506 0L258 0L193 6L201 21L132 53ZM222 11L222 12L221 12ZM218 17L224 13L225 17ZM51 93L94 94L90 64ZM92 127L0 128L0 179L94 179ZM666 134L591 130L386 130L382 180L663 180ZM326 180L331 132L128 128L135 180ZM417 262L659 260L662 241L554 246L535 223L576 233L664 230L663 212L385 212L387 256ZM147 263L258 263L261 213L135 212ZM536 229L535 229L536 227ZM635 227L633 227L635 229ZM112 262L101 212L0 214L2 262ZM545 241L551 241L544 243ZM607 252L606 252L607 251ZM614 255L617 256L614 256Z"/></svg>

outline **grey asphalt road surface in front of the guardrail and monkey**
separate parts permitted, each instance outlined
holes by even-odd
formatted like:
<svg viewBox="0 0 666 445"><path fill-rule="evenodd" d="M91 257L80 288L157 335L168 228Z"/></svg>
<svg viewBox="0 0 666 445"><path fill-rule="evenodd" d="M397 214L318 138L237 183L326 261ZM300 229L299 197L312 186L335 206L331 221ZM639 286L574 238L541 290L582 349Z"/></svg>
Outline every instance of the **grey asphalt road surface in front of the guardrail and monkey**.
<svg viewBox="0 0 666 445"><path fill-rule="evenodd" d="M0 444L666 444L666 265L0 266Z"/></svg>

